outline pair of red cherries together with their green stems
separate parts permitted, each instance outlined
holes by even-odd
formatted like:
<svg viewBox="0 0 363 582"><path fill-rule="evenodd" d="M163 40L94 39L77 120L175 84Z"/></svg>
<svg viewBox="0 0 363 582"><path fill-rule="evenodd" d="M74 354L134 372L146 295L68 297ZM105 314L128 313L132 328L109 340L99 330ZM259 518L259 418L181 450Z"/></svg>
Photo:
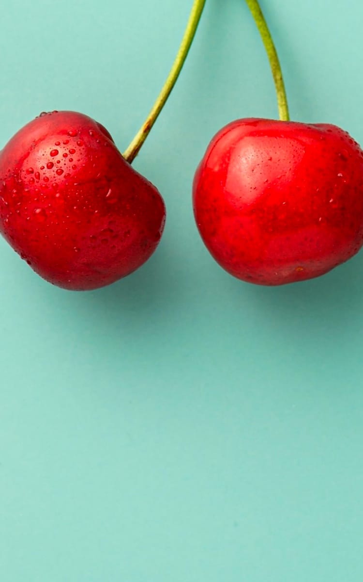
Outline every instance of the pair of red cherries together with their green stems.
<svg viewBox="0 0 363 582"><path fill-rule="evenodd" d="M39 275L66 289L109 285L157 247L166 210L131 166L182 68L205 0L195 0L161 94L128 150L76 112L41 113L0 152L0 230ZM211 141L193 184L200 235L252 283L322 275L363 244L363 152L339 127L289 121L275 47L246 0L271 63L280 120L240 119Z"/></svg>

